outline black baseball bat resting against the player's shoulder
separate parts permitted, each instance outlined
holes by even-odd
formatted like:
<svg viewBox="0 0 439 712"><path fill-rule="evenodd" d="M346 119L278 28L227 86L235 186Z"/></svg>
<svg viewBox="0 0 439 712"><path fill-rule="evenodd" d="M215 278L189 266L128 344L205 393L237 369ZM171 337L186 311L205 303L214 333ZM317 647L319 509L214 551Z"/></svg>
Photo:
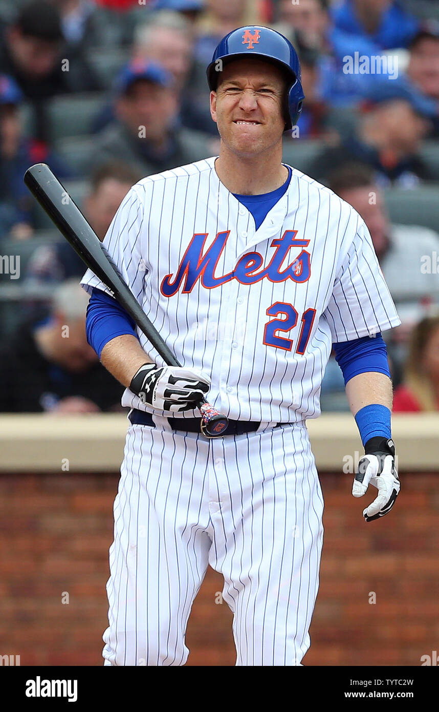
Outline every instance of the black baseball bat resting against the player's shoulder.
<svg viewBox="0 0 439 712"><path fill-rule="evenodd" d="M48 165L37 163L31 166L24 174L23 180L53 224L84 264L112 291L166 365L179 366L176 357L147 318L95 231ZM228 426L227 417L213 408L205 398L199 401L199 409L201 433L211 438L223 435Z"/></svg>

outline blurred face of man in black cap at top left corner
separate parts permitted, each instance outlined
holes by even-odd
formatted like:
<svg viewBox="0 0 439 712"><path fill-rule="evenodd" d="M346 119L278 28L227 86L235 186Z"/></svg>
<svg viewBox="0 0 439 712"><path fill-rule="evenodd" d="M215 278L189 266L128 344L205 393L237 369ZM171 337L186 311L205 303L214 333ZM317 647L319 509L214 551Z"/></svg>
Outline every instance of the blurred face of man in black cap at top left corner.
<svg viewBox="0 0 439 712"><path fill-rule="evenodd" d="M36 79L50 74L58 61L58 42L23 35L16 28L9 31L9 47L21 72Z"/></svg>

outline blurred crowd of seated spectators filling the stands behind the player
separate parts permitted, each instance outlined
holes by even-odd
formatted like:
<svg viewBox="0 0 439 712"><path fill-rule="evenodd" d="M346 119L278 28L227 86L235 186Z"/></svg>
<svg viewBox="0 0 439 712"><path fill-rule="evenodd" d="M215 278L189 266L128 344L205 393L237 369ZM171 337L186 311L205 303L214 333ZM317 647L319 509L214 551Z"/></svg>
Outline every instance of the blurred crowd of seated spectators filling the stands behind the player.
<svg viewBox="0 0 439 712"><path fill-rule="evenodd" d="M26 169L47 163L103 239L137 180L218 153L206 66L245 24L300 56L285 162L371 233L402 321L384 334L395 411L439 410L437 0L0 0L0 412L112 411L122 393ZM322 410L347 409L332 357Z"/></svg>

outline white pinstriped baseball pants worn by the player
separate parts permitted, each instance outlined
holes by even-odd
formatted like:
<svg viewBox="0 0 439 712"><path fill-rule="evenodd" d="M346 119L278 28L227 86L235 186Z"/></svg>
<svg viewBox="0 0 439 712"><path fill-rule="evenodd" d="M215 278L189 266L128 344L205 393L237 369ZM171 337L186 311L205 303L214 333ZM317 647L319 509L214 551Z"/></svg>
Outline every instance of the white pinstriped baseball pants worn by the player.
<svg viewBox="0 0 439 712"><path fill-rule="evenodd" d="M305 423L265 425L214 440L167 424L129 427L105 665L184 665L208 564L224 577L236 665L301 664L319 585L322 491Z"/></svg>

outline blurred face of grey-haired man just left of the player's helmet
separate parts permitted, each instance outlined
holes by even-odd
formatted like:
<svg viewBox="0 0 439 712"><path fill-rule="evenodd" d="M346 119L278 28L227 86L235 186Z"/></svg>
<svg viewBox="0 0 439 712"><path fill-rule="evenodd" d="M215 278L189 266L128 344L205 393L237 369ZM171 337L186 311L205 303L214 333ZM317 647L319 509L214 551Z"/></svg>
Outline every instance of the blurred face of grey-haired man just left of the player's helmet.
<svg viewBox="0 0 439 712"><path fill-rule="evenodd" d="M184 33L176 32L167 27L157 27L154 37L147 46L137 47L136 57L152 59L159 62L175 78L181 86L189 73L192 56L192 45Z"/></svg>

